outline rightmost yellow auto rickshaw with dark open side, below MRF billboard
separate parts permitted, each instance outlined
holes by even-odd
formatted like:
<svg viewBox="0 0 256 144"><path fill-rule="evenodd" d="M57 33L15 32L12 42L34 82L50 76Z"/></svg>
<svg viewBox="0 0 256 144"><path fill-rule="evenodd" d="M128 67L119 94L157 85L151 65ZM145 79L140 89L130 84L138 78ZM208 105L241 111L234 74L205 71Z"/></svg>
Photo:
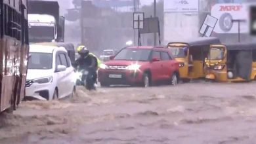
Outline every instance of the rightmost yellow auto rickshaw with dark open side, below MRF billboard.
<svg viewBox="0 0 256 144"><path fill-rule="evenodd" d="M217 82L255 80L256 43L211 45L205 63L207 67L206 79Z"/></svg>

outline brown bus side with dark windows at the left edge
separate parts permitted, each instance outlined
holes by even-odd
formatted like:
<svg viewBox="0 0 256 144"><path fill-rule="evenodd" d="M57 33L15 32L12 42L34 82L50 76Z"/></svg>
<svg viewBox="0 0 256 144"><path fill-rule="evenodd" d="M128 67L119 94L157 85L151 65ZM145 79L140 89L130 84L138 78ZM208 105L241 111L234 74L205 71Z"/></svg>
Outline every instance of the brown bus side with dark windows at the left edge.
<svg viewBox="0 0 256 144"><path fill-rule="evenodd" d="M0 112L25 96L28 65L28 1L0 1Z"/></svg>

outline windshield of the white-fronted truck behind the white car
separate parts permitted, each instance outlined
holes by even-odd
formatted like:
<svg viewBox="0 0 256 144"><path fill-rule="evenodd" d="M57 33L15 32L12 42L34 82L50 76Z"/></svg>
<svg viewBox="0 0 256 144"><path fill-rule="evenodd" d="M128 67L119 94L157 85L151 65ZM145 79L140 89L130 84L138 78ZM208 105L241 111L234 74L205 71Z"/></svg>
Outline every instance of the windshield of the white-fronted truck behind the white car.
<svg viewBox="0 0 256 144"><path fill-rule="evenodd" d="M54 39L54 27L31 26L29 28L30 42L52 42Z"/></svg>

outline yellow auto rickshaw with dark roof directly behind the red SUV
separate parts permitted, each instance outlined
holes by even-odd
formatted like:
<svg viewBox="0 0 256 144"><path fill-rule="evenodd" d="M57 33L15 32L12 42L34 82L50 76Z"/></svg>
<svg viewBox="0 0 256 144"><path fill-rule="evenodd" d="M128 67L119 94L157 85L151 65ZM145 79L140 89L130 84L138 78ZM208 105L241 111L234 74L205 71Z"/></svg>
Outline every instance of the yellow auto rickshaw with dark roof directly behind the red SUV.
<svg viewBox="0 0 256 144"><path fill-rule="evenodd" d="M171 42L167 45L171 49L175 60L180 62L179 73L183 82L191 79L205 79L205 58L209 54L210 45L220 44L214 37L198 37L186 42Z"/></svg>

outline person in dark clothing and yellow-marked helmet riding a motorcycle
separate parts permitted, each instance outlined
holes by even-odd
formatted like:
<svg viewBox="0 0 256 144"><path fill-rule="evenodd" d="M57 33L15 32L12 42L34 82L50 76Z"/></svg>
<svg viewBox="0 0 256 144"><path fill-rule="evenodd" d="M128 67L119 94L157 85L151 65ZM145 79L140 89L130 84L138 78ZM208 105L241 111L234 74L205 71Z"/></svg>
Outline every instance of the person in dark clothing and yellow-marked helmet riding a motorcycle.
<svg viewBox="0 0 256 144"><path fill-rule="evenodd" d="M93 76L94 84L96 83L97 79L97 69L98 63L95 56L89 54L89 50L85 46L79 46L77 48L77 52L80 57L75 61L74 67L78 70L87 69L89 71L89 75ZM93 84L93 85L94 85ZM95 89L95 86L94 86Z"/></svg>

